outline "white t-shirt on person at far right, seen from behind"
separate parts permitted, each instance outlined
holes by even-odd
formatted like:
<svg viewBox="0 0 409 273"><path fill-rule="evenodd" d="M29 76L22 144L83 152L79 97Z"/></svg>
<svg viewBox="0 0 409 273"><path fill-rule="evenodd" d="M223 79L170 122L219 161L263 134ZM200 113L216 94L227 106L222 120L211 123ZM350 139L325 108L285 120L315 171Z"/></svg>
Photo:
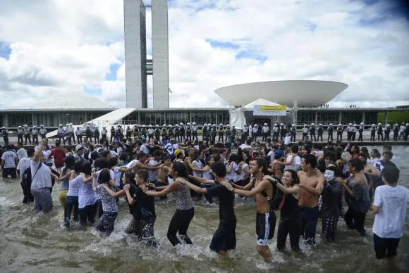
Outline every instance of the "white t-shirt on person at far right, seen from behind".
<svg viewBox="0 0 409 273"><path fill-rule="evenodd" d="M401 238L405 225L409 190L404 186L378 186L374 205L379 207L372 231L381 238Z"/></svg>

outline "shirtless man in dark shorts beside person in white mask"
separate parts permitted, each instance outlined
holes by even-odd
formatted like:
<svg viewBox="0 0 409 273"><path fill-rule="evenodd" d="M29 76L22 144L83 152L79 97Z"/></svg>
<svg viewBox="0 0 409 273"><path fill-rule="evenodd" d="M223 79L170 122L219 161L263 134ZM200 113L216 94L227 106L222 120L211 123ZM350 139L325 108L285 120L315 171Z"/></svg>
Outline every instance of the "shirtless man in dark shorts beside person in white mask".
<svg viewBox="0 0 409 273"><path fill-rule="evenodd" d="M324 189L324 175L315 169L317 158L315 155L305 155L301 160L302 171L298 172L300 178L300 207L301 220L303 221L302 234L305 243L315 246L315 229L319 215L318 199Z"/></svg>

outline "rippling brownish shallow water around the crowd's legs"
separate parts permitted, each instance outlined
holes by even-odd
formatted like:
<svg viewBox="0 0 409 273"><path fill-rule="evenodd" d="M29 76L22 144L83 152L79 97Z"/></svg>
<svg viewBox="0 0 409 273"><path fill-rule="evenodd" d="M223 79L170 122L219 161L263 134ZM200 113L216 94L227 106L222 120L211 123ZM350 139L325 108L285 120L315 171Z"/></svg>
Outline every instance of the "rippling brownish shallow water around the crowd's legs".
<svg viewBox="0 0 409 273"><path fill-rule="evenodd" d="M377 148L381 151L381 147ZM400 183L409 186L409 163L405 160L409 146L393 147L393 153L400 159ZM102 239L92 229L81 231L75 226L64 229L57 188L52 196L53 211L34 215L32 205L21 203L20 184L16 180L0 180L0 272L408 272L409 269L409 215L398 257L391 261L374 258L374 215L369 212L365 221L366 237L348 231L340 220L334 243L321 240L319 220L317 248L301 243L303 255L291 251L279 253L274 234L269 244L273 262L267 264L255 251L254 203L236 201L237 248L230 258L221 258L209 250L212 234L219 224L216 205L197 203L188 230L195 245L173 248L166 231L175 210L174 199L158 201L155 235L161 246L148 248L132 237L123 236L131 216L122 200L114 233Z"/></svg>

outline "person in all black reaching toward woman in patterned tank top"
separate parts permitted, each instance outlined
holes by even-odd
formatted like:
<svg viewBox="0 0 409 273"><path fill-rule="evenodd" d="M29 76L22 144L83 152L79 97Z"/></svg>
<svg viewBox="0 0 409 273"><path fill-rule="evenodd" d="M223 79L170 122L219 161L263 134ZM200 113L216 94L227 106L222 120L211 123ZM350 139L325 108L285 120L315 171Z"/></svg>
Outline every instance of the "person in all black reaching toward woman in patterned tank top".
<svg viewBox="0 0 409 273"><path fill-rule="evenodd" d="M209 193L212 196L219 196L219 218L220 223L210 243L210 249L219 255L227 255L227 251L236 248L236 215L234 213L234 194L226 189L229 185L226 179L226 166L224 163L214 163L212 166L215 177L215 186L212 188L200 188L186 181L178 179L178 182L186 184L197 193Z"/></svg>

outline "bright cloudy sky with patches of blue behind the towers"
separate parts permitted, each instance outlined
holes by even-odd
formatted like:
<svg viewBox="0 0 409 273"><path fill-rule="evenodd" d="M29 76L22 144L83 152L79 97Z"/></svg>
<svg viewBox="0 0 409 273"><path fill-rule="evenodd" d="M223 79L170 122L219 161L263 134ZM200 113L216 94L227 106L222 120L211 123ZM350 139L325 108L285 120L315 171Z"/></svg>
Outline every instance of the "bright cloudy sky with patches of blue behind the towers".
<svg viewBox="0 0 409 273"><path fill-rule="evenodd" d="M171 107L226 106L215 89L267 80L349 84L331 106L408 105L398 2L171 0ZM0 108L125 107L123 60L122 0L0 1Z"/></svg>

